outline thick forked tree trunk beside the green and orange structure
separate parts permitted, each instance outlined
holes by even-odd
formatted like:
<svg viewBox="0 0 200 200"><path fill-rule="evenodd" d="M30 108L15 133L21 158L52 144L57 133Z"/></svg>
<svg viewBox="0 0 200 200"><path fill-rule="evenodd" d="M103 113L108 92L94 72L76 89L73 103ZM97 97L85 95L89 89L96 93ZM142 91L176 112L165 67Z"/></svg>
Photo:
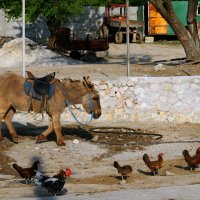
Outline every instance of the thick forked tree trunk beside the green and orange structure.
<svg viewBox="0 0 200 200"><path fill-rule="evenodd" d="M200 43L196 22L198 1L188 0L187 27L176 16L171 0L150 0L150 2L174 30L174 33L185 50L186 60L199 60Z"/></svg>

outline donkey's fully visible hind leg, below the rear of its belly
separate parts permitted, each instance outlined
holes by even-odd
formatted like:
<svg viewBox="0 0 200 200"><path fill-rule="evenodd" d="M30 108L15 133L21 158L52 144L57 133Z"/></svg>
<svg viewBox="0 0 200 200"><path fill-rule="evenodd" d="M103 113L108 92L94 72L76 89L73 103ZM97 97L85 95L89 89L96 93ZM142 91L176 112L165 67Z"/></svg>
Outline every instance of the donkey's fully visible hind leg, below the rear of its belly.
<svg viewBox="0 0 200 200"><path fill-rule="evenodd" d="M10 135L12 137L12 140L14 143L18 143L18 135L17 135L17 132L13 126L13 123L12 123L12 117L13 115L15 114L15 110L13 109L10 109L6 115L4 116L4 121L8 127L8 130L10 132Z"/></svg>

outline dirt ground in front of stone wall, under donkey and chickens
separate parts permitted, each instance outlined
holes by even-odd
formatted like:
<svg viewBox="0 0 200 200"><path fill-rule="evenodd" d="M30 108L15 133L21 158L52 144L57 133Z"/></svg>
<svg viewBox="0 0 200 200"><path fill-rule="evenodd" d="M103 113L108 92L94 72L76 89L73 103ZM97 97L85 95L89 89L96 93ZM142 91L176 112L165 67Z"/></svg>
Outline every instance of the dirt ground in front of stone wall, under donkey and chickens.
<svg viewBox="0 0 200 200"><path fill-rule="evenodd" d="M101 127L110 126L94 123L92 127L99 130ZM109 130L112 130L112 127ZM162 138L145 139L146 136L140 135L138 138L134 134L128 134L128 138L120 138L117 130L105 135L88 132L88 127L80 128L69 124L63 128L66 147L58 147L54 135L51 135L48 142L35 144L35 136L46 127L17 128L20 134L18 144L9 141L9 135L4 129L5 140L1 142L0 152L0 196L3 199L47 196L46 190L35 186L33 182L25 184L11 166L18 163L27 167L34 160L40 160L40 171L48 175L55 174L60 168L72 169L73 173L59 195L64 195L66 190L71 194L82 194L200 183L200 170L189 171L182 156L184 149L194 154L199 146L199 124L118 123L114 127L119 130L122 130L122 127L132 128L140 134L161 134ZM92 139L96 138L95 136L98 136L97 141ZM75 139L78 143L74 143ZM164 153L164 167L158 175L152 176L142 156L148 153L150 158L155 160L160 152ZM121 182L121 176L113 167L115 160L121 165L128 164L133 168L126 183Z"/></svg>

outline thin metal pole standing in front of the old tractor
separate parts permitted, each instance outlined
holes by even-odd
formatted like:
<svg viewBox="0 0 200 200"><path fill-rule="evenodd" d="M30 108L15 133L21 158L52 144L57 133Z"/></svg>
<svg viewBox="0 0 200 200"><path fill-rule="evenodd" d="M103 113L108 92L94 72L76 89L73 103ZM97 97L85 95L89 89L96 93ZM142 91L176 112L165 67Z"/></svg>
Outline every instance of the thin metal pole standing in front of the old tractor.
<svg viewBox="0 0 200 200"><path fill-rule="evenodd" d="M126 46L127 46L127 56L126 56L126 64L127 64L127 76L130 76L130 58L129 58L129 0L126 0Z"/></svg>

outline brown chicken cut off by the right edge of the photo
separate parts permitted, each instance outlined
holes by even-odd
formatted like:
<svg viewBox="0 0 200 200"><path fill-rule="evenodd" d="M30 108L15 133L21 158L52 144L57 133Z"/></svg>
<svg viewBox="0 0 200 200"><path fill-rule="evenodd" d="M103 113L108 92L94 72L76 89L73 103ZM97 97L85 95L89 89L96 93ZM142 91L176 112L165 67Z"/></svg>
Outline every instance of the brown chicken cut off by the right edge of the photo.
<svg viewBox="0 0 200 200"><path fill-rule="evenodd" d="M199 167L200 155L198 154L198 151L194 156L190 156L188 150L184 150L183 151L183 156L185 158L185 161L188 164L188 168L190 169L190 171L195 170L195 168Z"/></svg>

